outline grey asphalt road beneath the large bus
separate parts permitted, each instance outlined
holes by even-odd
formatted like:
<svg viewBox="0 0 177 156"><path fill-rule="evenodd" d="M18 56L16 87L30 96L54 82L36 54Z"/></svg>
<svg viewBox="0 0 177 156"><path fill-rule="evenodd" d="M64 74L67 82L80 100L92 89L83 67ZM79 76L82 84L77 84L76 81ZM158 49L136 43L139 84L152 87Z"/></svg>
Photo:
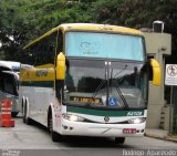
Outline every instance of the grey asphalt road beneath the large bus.
<svg viewBox="0 0 177 156"><path fill-rule="evenodd" d="M177 155L177 143L150 137L129 137L124 145L116 145L114 138L96 137L65 137L53 143L40 124L25 125L21 117L14 119L14 127L0 127L0 156L156 156L157 150L159 155Z"/></svg>

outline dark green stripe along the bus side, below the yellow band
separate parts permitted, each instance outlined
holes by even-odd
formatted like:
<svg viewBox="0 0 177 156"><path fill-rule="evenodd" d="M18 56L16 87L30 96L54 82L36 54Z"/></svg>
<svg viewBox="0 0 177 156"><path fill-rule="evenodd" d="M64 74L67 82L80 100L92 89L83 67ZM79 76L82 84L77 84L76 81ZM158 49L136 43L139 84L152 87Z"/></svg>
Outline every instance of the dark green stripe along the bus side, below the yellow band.
<svg viewBox="0 0 177 156"><path fill-rule="evenodd" d="M20 82L21 86L38 86L38 87L53 87L53 81L32 81L32 82Z"/></svg>

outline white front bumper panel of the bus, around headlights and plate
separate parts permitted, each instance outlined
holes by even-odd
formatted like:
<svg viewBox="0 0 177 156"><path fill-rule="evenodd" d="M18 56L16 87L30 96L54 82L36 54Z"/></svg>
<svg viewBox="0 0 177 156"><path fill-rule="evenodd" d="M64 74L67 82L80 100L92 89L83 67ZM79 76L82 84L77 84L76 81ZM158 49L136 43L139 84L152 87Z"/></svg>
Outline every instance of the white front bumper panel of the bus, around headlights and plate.
<svg viewBox="0 0 177 156"><path fill-rule="evenodd" d="M62 113L66 112L66 107L63 106ZM69 113L71 114L71 113ZM74 113L72 113L74 115ZM104 116L95 116L95 115L85 115L85 114L79 114L75 115L88 118L90 121L97 121L97 123L84 123L84 122L72 122L64 118L56 118L55 121L59 121L58 131L62 135L81 135L81 136L112 136L112 137L123 137L123 136L144 136L144 131L146 126L146 122L142 124L118 124L118 122L124 122L132 118L137 117L146 117L147 111L145 111L144 116L124 116L124 117L110 117L110 121L115 123L103 123ZM62 122L61 122L62 121ZM101 123L100 123L101 122ZM64 128L67 127L67 128ZM124 128L135 128L139 131L139 133L135 134L125 134L123 133Z"/></svg>

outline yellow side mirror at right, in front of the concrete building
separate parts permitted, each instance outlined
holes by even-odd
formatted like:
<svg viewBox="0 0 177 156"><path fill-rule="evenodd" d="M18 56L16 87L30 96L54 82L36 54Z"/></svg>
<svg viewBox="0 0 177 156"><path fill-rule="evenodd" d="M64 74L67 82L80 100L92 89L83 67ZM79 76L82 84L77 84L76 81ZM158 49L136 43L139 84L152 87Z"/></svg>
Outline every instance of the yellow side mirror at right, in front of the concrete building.
<svg viewBox="0 0 177 156"><path fill-rule="evenodd" d="M160 85L162 83L162 71L160 65L155 59L149 60L149 66L152 69L153 85Z"/></svg>

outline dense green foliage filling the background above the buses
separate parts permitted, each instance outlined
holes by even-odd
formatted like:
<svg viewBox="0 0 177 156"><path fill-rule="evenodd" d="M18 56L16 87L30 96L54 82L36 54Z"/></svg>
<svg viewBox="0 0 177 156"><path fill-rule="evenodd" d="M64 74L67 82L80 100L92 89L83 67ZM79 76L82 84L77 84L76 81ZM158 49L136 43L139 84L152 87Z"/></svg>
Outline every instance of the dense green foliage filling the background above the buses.
<svg viewBox="0 0 177 156"><path fill-rule="evenodd" d="M177 45L177 1L175 0L0 0L0 53L6 60L25 60L23 45L61 23L94 22L152 28L165 22ZM29 62L28 62L29 63Z"/></svg>

